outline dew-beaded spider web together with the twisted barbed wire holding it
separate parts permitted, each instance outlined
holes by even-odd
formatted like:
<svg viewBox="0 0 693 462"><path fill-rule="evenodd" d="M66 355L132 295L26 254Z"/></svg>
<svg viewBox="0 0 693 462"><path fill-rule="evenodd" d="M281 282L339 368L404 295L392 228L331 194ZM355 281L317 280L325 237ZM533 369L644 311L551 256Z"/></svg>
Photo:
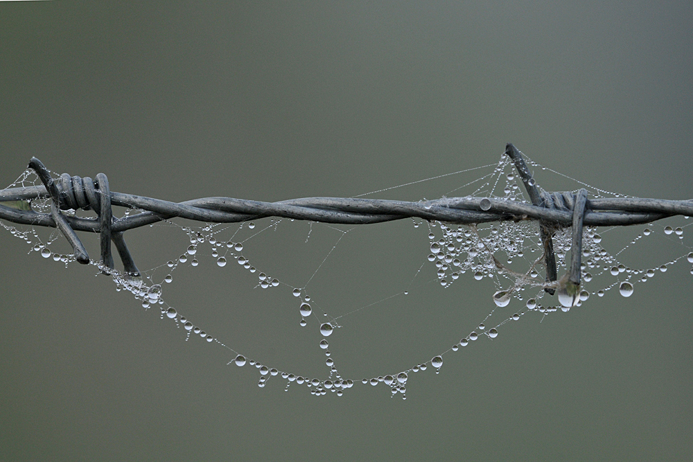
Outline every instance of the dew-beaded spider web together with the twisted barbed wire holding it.
<svg viewBox="0 0 693 462"><path fill-rule="evenodd" d="M606 191L597 189L593 190L593 194L597 197L590 198L586 188L570 192L548 193L538 186L532 172L527 167L527 163L525 163L525 159L523 159L523 154L514 145L507 145L505 156L495 166L491 174L481 178L486 180L485 186L477 188L472 195L442 197L441 199L420 202L357 197L308 197L281 202L259 202L229 197L206 197L175 203L111 191L108 179L103 173L96 175L95 179L71 177L68 174L62 174L54 179L43 163L33 158L28 165L28 170L20 177L21 187L0 190L0 202L6 204L0 204L0 218L16 224L31 226L30 230L22 231L14 226L3 224L15 236L24 238L27 242L31 243L32 237L38 240L39 242L33 245L33 250L40 251L45 258L52 256L54 260L61 260L66 264L77 261L82 264L96 265L100 272L112 276L119 290L125 289L132 292L137 299L142 301L145 308L155 304L161 305L161 311L165 317L180 323L188 332L188 337L193 332L207 341L216 341L218 344L229 348L236 354L236 357L229 364L243 366L249 362L255 365L261 374L258 383L261 387L264 387L269 377L281 375L288 381L287 388L288 384L292 382L308 383L313 394L323 395L326 394L326 391L334 391L341 396L344 390L353 386L353 380L340 375L328 351L326 351L328 356L326 365L330 373L327 379L310 379L279 371L279 369L269 368L261 362L246 359L244 355L223 344L212 335L208 335L202 328L193 325L185 317L180 316L175 308L167 307L168 304L164 302L161 296L161 283L153 281L152 276L146 274L147 272L144 272L146 277L143 278L143 274L135 265L134 259L125 245L123 238L125 231L161 221L173 223L171 220L175 217L206 222L207 225L199 231L195 231L192 227L184 227L184 231L190 237L191 245L175 262L170 260L166 266L175 269L177 265L186 263L188 258L191 259L193 266L197 265L195 254L198 246L207 242L212 246L211 254L217 258L218 266L225 266L227 257L229 257L254 273L256 268L240 253L243 251L243 243L233 242L236 234L234 233L234 236L231 236L229 240L220 240L220 232L218 229L214 229L212 223L254 222L265 217L275 217L328 224L356 225L412 218L414 219L414 226L418 227L419 223L416 222L416 219L426 220L431 231L429 233L430 255L428 261L435 263L437 280L441 286L449 287L453 281L467 271L473 273L477 280L484 277L493 278L498 290L492 298L498 307L509 305L513 298L523 300L522 292L526 288L538 289L534 297L527 299L526 310L512 314L496 326L486 328L484 323L480 324L477 329L469 332L459 343L450 348L453 351L459 349L460 346L468 345L470 341L476 340L480 335L486 335L491 339L495 338L500 326L510 320L517 321L527 312L541 312L545 315L556 311L556 307L543 306L539 303L544 294L554 295L557 292L560 308L563 311L568 311L576 305L581 305L589 298L590 292L585 289L585 283L589 283L593 278L602 276L602 274L611 274L611 276L618 278L624 275L625 278L623 281L617 280L615 283L608 283L603 289L592 292L592 294L603 296L605 291L618 285L620 294L630 296L633 293L633 283L647 281L648 278L653 277L656 269L665 272L667 265L676 263L683 256L690 263L693 263L693 253L689 252L660 265L658 268L631 269L617 260L618 254L608 254L599 245L602 237L597 233L598 226L649 224L674 215L688 217L693 215L692 200L601 197L601 193L606 193ZM530 163L533 166L538 165L531 161ZM505 175L504 169L509 165L514 165L518 172L517 176L513 172ZM471 170L475 169L460 170L460 172ZM432 179L457 173L459 172L439 175ZM41 184L27 186L25 183L30 183L29 178L32 175L35 175ZM502 195L495 194L495 188L502 181L504 175L507 186ZM523 197L518 179L524 186L529 200ZM413 181L408 184L417 184L427 180ZM467 185L473 184L475 181L471 181ZM488 189L483 190L486 186ZM381 189L375 193L389 189L392 188ZM459 188L455 190L457 189ZM486 194L482 195L484 192ZM112 206L123 206L128 208L128 211L123 217L114 217ZM94 211L97 216L80 217L78 214L80 210ZM272 220L268 226L257 233L272 227L277 229L280 221ZM432 229L437 224L439 224L442 233L438 240L436 240L437 236L433 232L435 229ZM493 227L487 227L489 225ZM58 228L71 245L73 254L53 253L49 249L49 245L58 236L51 235L47 242L42 242L33 226ZM254 224L251 223L247 227L252 229ZM301 326L306 325L305 318L313 314L313 306L315 306L315 301L311 301L310 296L306 293L306 285L313 280L315 274L349 232L349 230L333 229L340 232L340 237L328 251L322 263L315 269L304 286L291 287L293 296L301 299L299 303ZM99 233L100 260L95 261L89 258L76 231ZM649 228L643 231L644 236L648 236L650 233L652 230ZM674 234L678 238L683 238L683 227L674 230L667 226L664 228L664 233L667 236ZM639 235L635 240L641 237L642 235ZM635 240L631 243L634 243ZM116 245L116 250L123 262L123 272L114 269L111 242ZM535 251L535 256L528 258L529 254ZM569 251L570 260L567 260ZM527 257L525 257L525 252L528 253ZM507 258L502 258L501 254L505 254ZM528 267L518 269L517 265L512 265L513 258L524 259L527 261ZM583 258L586 261L583 261ZM414 278L421 272L424 265L421 265ZM565 274L561 278L558 276L559 267L565 267ZM544 273L543 278L539 277L540 271ZM170 274L164 278L167 283L170 283L171 280ZM267 289L278 287L280 284L278 278L272 278L265 272L258 274L258 287ZM408 291L405 290L403 293L407 294ZM334 328L340 327L338 321L340 318L369 308L376 303L392 299L396 295L390 294L382 300L369 303L340 316L330 317L328 322L320 323L320 332L324 337L320 342L320 347L325 350L328 348L326 337L332 334ZM408 374L426 370L427 364L439 369L444 353L433 357L428 362L416 364L405 371L373 377L370 380L363 379L362 382L373 385L383 382L391 387L393 395L402 393L402 396L405 396Z"/></svg>

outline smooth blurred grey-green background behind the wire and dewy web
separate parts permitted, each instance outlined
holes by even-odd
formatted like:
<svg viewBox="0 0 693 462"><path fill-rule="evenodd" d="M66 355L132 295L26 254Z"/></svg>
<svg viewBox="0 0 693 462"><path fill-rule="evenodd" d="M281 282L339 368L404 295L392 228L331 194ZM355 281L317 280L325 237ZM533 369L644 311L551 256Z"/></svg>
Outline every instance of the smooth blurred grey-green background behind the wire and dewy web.
<svg viewBox="0 0 693 462"><path fill-rule="evenodd" d="M0 2L0 183L36 156L172 201L347 197L495 163L511 141L594 186L687 199L692 19L688 2ZM340 235L314 225L306 244L309 227L282 222L244 254L301 285ZM641 230L602 245L617 251ZM410 220L350 231L311 294L340 314L403 290L426 233ZM141 269L188 245L165 226L126 236ZM647 267L688 251L658 236L623 259ZM96 257L98 238L82 237ZM260 389L254 368L184 341L94 267L27 256L6 231L0 246L3 461L693 458L685 260L629 299L523 317L448 353L401 400L360 383L341 398L285 393L276 377ZM164 298L220 341L324 376L316 321L299 328L288 290L252 290L256 276L210 256L173 275ZM493 308L491 283L465 276L342 319L330 337L340 371L401 371L449 348Z"/></svg>

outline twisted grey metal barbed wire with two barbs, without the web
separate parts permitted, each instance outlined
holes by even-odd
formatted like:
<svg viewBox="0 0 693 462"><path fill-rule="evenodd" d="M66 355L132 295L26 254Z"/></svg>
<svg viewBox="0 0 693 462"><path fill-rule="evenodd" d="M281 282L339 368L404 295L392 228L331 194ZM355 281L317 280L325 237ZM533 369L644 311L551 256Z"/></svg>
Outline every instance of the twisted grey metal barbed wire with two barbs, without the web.
<svg viewBox="0 0 693 462"><path fill-rule="evenodd" d="M26 186L0 190L0 202L19 200L51 200L51 212L19 210L0 204L0 218L17 224L58 228L73 248L79 263L89 263L89 256L75 231L100 233L101 261L114 267L110 242L119 252L125 272L139 276L139 270L128 251L123 233L161 220L180 217L213 223L258 220L263 217L283 217L332 224L371 224L417 217L450 224L480 224L534 220L540 225L544 251L547 292L554 293L557 285L556 262L553 252L554 233L572 227L570 287L580 283L581 240L583 226L628 226L649 223L673 215L693 215L693 199L665 200L638 197L588 198L587 190L576 193L548 193L536 184L517 148L508 144L505 154L514 162L529 195L531 204L511 199L491 197L446 197L426 202L405 202L356 197L305 197L280 202L261 202L231 197L204 197L185 202L169 202L152 197L111 191L103 173L90 177L63 173L53 179L44 164L35 157L28 164L40 178L42 186ZM114 217L112 206L143 210L125 217ZM96 218L67 215L67 210L92 210ZM565 288L565 282L563 283ZM575 292L577 296L577 292Z"/></svg>

